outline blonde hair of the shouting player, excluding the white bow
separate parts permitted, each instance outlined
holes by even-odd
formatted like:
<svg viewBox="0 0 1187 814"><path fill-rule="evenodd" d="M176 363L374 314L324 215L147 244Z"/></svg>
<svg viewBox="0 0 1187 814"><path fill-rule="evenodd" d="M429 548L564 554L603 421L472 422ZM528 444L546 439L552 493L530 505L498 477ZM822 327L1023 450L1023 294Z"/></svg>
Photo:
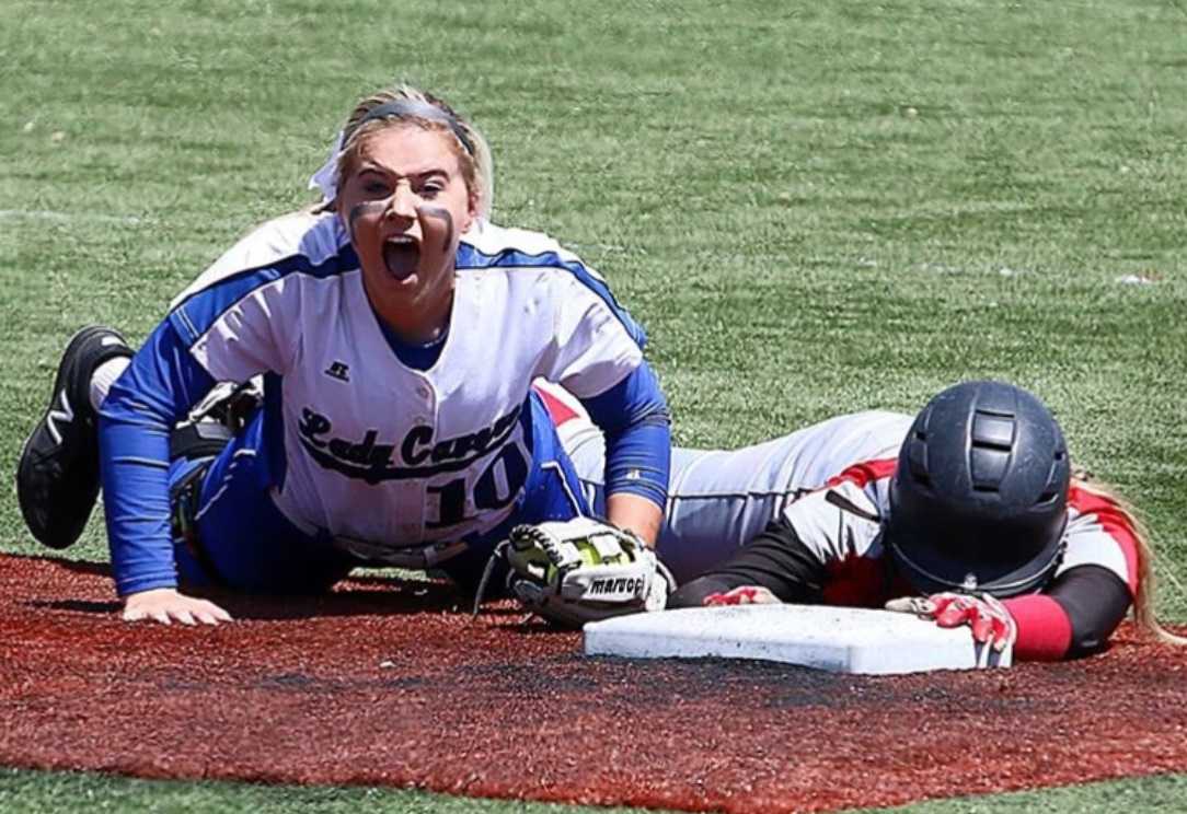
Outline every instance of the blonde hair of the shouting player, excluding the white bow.
<svg viewBox="0 0 1187 814"><path fill-rule="evenodd" d="M372 110L392 102L408 102L411 112L367 119ZM442 115L417 115L417 106L436 108ZM475 211L480 218L489 220L495 201L495 173L490 146L485 138L444 100L407 84L399 84L372 94L360 101L350 112L350 116L347 117L347 123L342 128L342 151L338 154L338 192L341 193L342 184L358 160L358 151L366 136L385 127L401 123L414 123L424 129L439 131L455 136L452 139L453 152L462 170L462 178L475 201Z"/></svg>

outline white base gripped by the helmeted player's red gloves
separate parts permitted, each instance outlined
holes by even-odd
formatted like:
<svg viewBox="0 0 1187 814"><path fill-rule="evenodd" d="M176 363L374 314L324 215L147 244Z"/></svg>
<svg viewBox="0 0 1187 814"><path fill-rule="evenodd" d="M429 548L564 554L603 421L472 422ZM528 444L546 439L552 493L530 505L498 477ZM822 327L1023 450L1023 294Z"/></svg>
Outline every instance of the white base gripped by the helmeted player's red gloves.
<svg viewBox="0 0 1187 814"><path fill-rule="evenodd" d="M1009 667L1013 653L966 628L858 608L737 605L620 616L585 625L585 654L631 659L762 659L833 673Z"/></svg>

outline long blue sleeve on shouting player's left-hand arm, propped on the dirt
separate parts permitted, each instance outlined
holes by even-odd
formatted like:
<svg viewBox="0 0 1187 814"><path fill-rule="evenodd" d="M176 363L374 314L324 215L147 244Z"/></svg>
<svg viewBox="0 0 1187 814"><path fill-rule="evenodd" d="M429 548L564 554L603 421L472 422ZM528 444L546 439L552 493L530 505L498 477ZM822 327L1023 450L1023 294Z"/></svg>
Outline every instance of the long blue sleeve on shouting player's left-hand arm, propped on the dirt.
<svg viewBox="0 0 1187 814"><path fill-rule="evenodd" d="M99 411L100 477L120 596L177 586L169 438L214 386L166 320L132 358Z"/></svg>

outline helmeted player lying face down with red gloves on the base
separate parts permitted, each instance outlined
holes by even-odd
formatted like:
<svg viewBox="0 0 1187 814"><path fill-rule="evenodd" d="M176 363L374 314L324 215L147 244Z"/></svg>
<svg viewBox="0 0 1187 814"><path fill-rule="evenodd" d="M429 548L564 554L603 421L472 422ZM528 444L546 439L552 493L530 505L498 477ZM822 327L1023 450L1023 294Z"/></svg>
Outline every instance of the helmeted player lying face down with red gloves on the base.
<svg viewBox="0 0 1187 814"><path fill-rule="evenodd" d="M550 408L595 508L597 431ZM659 558L667 608L888 608L967 624L1016 659L1091 654L1153 613L1151 552L1123 502L1073 476L1047 407L1011 384L951 387L914 418L842 415L734 451L673 451Z"/></svg>

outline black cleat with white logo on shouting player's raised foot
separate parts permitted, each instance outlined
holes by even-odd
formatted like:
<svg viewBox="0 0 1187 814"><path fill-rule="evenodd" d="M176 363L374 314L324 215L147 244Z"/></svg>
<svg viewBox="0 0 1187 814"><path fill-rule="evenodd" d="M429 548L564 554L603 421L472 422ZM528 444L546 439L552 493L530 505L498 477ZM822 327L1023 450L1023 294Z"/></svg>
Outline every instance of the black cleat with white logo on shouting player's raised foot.
<svg viewBox="0 0 1187 814"><path fill-rule="evenodd" d="M50 406L25 440L17 498L33 536L65 548L82 534L99 497L99 427L90 379L103 362L132 356L123 337L91 325L74 335L58 364Z"/></svg>

